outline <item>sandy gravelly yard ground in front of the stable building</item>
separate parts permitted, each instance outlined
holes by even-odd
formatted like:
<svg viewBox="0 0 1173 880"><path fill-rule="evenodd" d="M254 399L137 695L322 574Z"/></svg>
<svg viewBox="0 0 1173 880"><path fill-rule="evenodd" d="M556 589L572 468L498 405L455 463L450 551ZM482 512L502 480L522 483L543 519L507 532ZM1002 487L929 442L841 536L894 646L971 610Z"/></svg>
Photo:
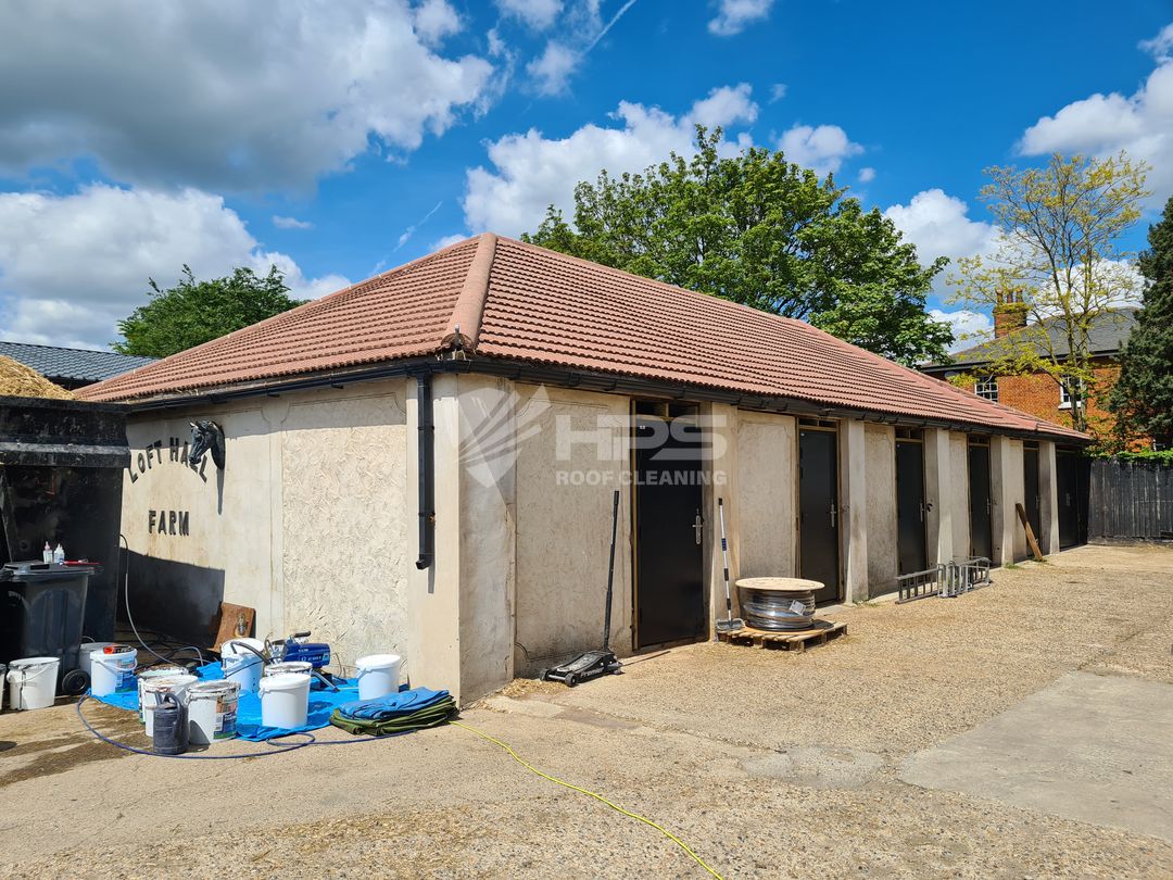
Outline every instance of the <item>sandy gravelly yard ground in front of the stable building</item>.
<svg viewBox="0 0 1173 880"><path fill-rule="evenodd" d="M1145 834L1108 813L1076 820L1062 804L902 779L982 731L988 750L1008 712L1047 705L1072 673L1173 695L1173 550L1082 548L995 578L958 600L836 611L849 635L804 655L673 649L575 690L515 683L463 720L662 823L725 876L1173 875L1173 813L1167 833ZM141 742L126 713L84 711ZM1150 788L1173 791L1167 767L1148 765L1171 776ZM1126 785L1121 774L1101 796ZM8 713L0 832L5 876L706 875L652 828L457 727L181 761L94 740L72 705Z"/></svg>

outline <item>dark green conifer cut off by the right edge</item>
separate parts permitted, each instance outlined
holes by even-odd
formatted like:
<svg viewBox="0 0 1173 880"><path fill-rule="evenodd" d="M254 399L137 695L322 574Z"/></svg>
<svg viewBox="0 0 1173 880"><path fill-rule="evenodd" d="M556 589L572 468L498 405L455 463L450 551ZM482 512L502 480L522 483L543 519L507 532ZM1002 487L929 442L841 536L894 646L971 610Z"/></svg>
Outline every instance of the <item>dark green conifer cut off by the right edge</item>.
<svg viewBox="0 0 1173 880"><path fill-rule="evenodd" d="M1120 353L1120 378L1108 395L1121 442L1151 436L1173 448L1173 198L1148 228L1140 255L1144 302Z"/></svg>

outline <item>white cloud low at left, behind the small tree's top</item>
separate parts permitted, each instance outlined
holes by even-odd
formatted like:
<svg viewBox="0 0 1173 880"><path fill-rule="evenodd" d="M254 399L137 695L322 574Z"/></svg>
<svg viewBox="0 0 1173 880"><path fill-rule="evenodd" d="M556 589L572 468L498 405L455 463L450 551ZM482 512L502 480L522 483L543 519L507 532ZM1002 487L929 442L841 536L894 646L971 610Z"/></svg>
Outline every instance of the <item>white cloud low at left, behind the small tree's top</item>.
<svg viewBox="0 0 1173 880"><path fill-rule="evenodd" d="M348 282L306 278L293 259L264 251L224 199L94 185L69 196L0 194L0 336L8 340L104 346L116 321L147 302L147 279L176 282L276 263L297 297Z"/></svg>

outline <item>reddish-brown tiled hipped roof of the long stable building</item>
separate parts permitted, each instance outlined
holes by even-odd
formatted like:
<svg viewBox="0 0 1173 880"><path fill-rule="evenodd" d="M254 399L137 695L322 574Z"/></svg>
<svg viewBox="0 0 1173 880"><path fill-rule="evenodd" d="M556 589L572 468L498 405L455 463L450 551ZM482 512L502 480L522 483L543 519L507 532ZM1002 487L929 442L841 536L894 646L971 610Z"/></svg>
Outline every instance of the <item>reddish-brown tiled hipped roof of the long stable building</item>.
<svg viewBox="0 0 1173 880"><path fill-rule="evenodd" d="M990 429L1082 438L800 320L486 233L86 388L91 400L438 354L663 379Z"/></svg>

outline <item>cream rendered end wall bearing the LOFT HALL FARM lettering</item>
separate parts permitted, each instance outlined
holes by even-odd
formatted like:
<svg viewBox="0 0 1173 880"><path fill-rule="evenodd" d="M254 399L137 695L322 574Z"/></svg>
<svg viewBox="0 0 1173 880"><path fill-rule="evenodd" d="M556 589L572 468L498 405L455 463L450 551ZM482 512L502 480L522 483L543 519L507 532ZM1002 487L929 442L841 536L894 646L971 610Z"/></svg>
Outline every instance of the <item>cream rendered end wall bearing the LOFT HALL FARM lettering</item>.
<svg viewBox="0 0 1173 880"><path fill-rule="evenodd" d="M185 583L165 587L170 610L209 600L218 609L223 598L257 610L258 637L310 629L347 665L374 650L411 662L404 397L395 380L133 414L122 529L133 551L185 563L174 569ZM170 460L169 438L182 456L195 419L225 434L226 466L217 472L208 456L206 482ZM187 512L189 534L148 534L151 508Z"/></svg>

